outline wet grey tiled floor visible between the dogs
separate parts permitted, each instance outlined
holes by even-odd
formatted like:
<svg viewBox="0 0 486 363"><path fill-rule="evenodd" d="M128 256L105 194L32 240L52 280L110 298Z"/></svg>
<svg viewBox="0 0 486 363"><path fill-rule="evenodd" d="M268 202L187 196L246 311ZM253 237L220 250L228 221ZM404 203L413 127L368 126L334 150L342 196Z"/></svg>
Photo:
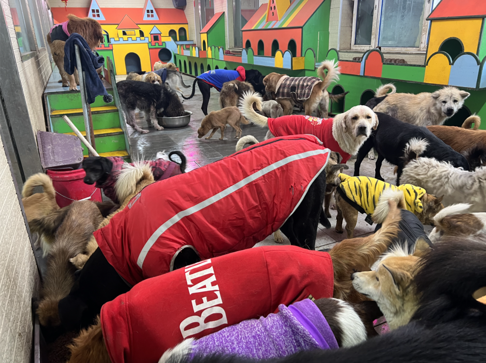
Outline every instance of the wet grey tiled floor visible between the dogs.
<svg viewBox="0 0 486 363"><path fill-rule="evenodd" d="M125 76L117 76L117 80L124 79ZM192 77L183 75L184 82L187 85L191 85L193 82ZM191 91L188 89L188 91ZM190 92L187 92L189 95ZM208 106L208 111L219 110L218 103L219 93L212 88L211 99ZM193 170L216 160L221 159L224 156L230 155L234 152L237 139L234 139L235 131L227 127L225 130L224 140L219 140L219 131L213 136L211 140L205 140L204 138L197 138L197 129L200 126L201 120L204 117L203 111L201 111L202 96L196 87L195 95L192 99L184 101L183 105L186 110L192 111L191 122L188 126L181 129L165 129L162 131L156 131L152 126L148 126L147 122L141 118L139 120L139 126L143 129L150 130L150 133L140 135L133 131L130 134L130 142L132 145L133 156L138 155L144 159L153 158L157 151L166 150L180 150L187 158L187 171ZM129 127L130 129L130 127ZM241 125L243 135L253 135L258 140L263 140L266 134L266 129L254 125ZM354 160L348 162L349 169L345 171L348 175L353 175ZM365 176L375 175L375 160L368 160L366 158L361 164L361 173ZM389 183L395 184L395 177L393 175L393 167L384 163L382 170L382 176ZM346 234L336 233L334 227L336 225L336 211L331 211L331 224L330 229L326 229L319 224L319 230L317 231L316 249L331 248L338 241L343 240ZM354 229L355 236L365 236L375 229L375 225L370 226L365 222L365 215L358 217L358 223ZM285 243L290 244L286 238ZM262 245L274 245L273 237L268 236L265 240L259 243L257 246Z"/></svg>

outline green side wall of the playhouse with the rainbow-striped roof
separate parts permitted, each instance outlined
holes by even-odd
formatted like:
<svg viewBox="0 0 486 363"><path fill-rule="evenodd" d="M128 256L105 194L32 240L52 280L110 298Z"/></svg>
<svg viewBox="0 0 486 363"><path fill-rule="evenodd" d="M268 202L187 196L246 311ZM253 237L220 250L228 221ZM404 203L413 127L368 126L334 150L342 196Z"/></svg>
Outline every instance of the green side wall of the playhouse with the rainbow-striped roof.
<svg viewBox="0 0 486 363"><path fill-rule="evenodd" d="M312 48L317 57L317 62L325 60L329 50L330 13L331 0L326 0L302 28L302 54L308 48Z"/></svg>

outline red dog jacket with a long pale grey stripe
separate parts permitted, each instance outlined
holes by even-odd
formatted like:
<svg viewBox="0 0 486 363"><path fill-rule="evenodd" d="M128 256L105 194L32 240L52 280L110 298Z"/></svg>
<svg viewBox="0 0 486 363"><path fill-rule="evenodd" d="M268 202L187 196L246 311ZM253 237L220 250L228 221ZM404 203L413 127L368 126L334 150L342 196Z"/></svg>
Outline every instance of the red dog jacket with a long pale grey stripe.
<svg viewBox="0 0 486 363"><path fill-rule="evenodd" d="M256 144L145 187L96 241L131 285L171 271L187 246L203 260L245 250L284 224L328 156L312 135Z"/></svg>

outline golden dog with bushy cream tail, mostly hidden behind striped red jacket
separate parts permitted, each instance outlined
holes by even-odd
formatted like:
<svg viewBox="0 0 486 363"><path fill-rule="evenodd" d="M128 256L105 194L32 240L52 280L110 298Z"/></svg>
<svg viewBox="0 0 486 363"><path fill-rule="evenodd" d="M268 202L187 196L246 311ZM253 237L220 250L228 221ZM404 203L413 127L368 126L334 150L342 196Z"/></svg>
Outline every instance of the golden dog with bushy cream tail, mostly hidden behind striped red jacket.
<svg viewBox="0 0 486 363"><path fill-rule="evenodd" d="M133 165L128 163L124 164L115 184L116 196L118 200L123 200L123 203L116 211L103 219L97 229L106 226L110 222L110 219L113 218L116 213L122 211L135 195L140 193L140 191L147 185L154 182L155 180L153 179L150 164L144 162L135 162ZM88 261L97 248L98 243L96 242L96 239L91 238L85 251L79 252L70 258L69 261L76 267L76 269L80 270L85 266L86 261Z"/></svg>

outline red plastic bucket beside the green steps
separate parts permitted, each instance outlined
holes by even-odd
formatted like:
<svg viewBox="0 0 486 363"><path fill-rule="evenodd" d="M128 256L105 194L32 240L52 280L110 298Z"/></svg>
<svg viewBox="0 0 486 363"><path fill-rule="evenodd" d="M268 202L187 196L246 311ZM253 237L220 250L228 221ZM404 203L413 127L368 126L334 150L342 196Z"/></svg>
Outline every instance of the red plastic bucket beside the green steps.
<svg viewBox="0 0 486 363"><path fill-rule="evenodd" d="M83 181L84 169L48 169L47 175L52 179L56 189L56 201L59 207L69 206L74 200L101 200L101 189L95 184L88 185Z"/></svg>

